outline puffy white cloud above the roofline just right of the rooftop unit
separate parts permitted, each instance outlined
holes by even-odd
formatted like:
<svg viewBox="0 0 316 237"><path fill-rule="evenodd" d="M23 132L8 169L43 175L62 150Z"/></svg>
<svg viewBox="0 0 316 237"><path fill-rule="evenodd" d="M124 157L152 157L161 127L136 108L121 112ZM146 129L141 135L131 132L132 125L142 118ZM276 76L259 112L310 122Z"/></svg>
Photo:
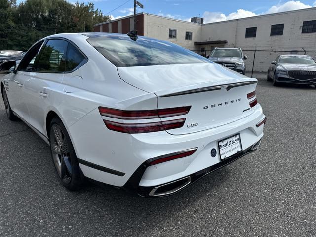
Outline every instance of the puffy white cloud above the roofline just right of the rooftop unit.
<svg viewBox="0 0 316 237"><path fill-rule="evenodd" d="M228 14L227 16L221 12L205 11L203 14L203 18L204 18L204 23L209 23L209 22L217 22L217 21L227 21L227 20L232 20L232 19L240 19L240 18L255 16L255 15L256 14L251 11L238 9L237 12L232 12Z"/></svg>

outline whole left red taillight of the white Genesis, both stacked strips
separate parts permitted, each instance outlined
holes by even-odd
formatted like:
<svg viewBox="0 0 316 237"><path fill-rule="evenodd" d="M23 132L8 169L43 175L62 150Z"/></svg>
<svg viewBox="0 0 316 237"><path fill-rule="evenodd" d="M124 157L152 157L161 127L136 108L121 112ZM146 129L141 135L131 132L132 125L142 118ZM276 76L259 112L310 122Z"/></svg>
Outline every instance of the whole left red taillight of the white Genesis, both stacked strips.
<svg viewBox="0 0 316 237"><path fill-rule="evenodd" d="M158 110L139 110L139 111L124 111L105 107L99 107L99 112L102 116L110 118L118 118L124 120L130 119L151 119L151 118L166 118L189 113L191 106L167 108ZM185 118L155 121L155 122L138 122L138 123L121 123L117 121L103 120L108 129L124 132L124 133L146 133L158 132L183 127Z"/></svg>

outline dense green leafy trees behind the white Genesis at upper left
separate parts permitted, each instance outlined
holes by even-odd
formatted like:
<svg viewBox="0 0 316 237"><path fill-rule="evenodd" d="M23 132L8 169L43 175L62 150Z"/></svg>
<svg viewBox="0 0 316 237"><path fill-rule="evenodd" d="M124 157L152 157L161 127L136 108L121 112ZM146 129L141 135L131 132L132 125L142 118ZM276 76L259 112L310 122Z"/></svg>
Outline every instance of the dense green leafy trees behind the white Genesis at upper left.
<svg viewBox="0 0 316 237"><path fill-rule="evenodd" d="M90 32L110 20L89 2L0 0L0 50L27 50L41 38L63 32Z"/></svg>

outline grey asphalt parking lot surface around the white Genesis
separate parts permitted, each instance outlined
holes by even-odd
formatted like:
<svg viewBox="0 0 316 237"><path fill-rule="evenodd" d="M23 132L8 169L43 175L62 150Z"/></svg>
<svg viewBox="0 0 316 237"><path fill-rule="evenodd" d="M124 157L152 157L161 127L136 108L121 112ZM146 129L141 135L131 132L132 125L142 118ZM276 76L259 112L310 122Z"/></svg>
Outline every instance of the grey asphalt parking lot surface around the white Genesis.
<svg viewBox="0 0 316 237"><path fill-rule="evenodd" d="M171 197L57 180L49 148L0 99L0 236L316 236L316 89L273 87L261 147Z"/></svg>

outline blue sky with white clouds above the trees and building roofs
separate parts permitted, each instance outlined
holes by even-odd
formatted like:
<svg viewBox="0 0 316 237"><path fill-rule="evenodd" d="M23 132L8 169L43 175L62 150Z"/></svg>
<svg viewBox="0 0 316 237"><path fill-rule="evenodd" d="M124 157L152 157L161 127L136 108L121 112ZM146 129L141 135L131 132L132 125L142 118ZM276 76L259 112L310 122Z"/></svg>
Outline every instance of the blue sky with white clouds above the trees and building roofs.
<svg viewBox="0 0 316 237"><path fill-rule="evenodd" d="M76 0L68 0L74 2ZM82 1L82 0L81 0ZM85 1L85 0L84 0ZM87 0L96 8L109 13L113 19L133 13L134 0ZM144 9L137 12L190 20L190 17L204 17L204 22L230 20L259 14L315 7L316 0L139 0ZM80 0L79 0L80 2ZM125 3L125 4L124 4ZM122 5L123 4L123 5ZM120 6L122 5L122 6ZM114 10L120 6L118 9Z"/></svg>

